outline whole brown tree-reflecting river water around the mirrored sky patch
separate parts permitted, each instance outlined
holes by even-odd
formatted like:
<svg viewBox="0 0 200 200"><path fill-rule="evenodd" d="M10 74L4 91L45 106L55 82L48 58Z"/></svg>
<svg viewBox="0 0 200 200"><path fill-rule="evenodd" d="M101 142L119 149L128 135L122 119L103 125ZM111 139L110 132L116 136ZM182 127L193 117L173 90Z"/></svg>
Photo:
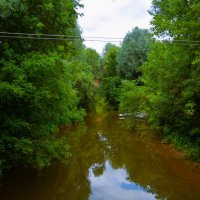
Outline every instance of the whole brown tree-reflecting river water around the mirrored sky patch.
<svg viewBox="0 0 200 200"><path fill-rule="evenodd" d="M158 199L197 199L198 176L167 156L168 150L159 142L135 134L125 129L116 114L90 116L86 125L65 132L73 154L67 166L55 164L41 176L15 170L2 181L0 199L88 200L90 172L101 176L106 160L114 169L125 168L130 182L157 194Z"/></svg>

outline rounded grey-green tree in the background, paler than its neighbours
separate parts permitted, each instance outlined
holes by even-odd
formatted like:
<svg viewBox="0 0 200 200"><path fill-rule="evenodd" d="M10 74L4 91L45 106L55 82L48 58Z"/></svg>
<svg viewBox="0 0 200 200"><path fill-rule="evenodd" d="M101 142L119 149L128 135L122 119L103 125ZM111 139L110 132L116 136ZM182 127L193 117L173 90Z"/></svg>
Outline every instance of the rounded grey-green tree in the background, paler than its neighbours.
<svg viewBox="0 0 200 200"><path fill-rule="evenodd" d="M141 76L140 67L147 60L149 36L146 29L135 27L128 32L122 42L118 56L119 73L123 79L137 79Z"/></svg>

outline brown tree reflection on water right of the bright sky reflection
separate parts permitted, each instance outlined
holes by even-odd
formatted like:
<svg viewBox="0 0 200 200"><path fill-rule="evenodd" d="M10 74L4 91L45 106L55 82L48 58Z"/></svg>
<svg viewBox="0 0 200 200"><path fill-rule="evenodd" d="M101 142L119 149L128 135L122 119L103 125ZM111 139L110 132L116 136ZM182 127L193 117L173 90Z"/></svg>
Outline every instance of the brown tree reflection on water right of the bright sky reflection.
<svg viewBox="0 0 200 200"><path fill-rule="evenodd" d="M148 134L148 127L144 123L140 126L142 130L130 134L123 122L105 120L105 127L109 128L103 133L110 146L107 157L112 167L125 168L130 182L156 194L157 199L197 199L200 180L196 174L188 170L183 160L170 157L169 149L159 141L135 137Z"/></svg>

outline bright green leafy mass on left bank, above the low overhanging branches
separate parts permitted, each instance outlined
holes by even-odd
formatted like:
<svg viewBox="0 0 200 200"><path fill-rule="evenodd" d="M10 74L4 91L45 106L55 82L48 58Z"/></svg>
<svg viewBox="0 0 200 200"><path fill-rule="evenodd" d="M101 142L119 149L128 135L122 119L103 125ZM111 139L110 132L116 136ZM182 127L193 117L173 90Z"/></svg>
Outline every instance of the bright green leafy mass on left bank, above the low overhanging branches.
<svg viewBox="0 0 200 200"><path fill-rule="evenodd" d="M1 132L46 135L76 118L77 97L58 55L26 54L16 62L1 62Z"/></svg>

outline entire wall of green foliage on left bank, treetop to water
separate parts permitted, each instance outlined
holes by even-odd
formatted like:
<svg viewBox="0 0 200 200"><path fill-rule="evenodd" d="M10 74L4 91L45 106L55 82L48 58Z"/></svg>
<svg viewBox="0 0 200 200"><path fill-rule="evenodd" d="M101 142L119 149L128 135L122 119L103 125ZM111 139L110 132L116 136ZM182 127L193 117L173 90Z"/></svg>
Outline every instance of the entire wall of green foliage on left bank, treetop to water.
<svg viewBox="0 0 200 200"><path fill-rule="evenodd" d="M0 31L80 37L80 6L74 0L1 1ZM0 49L0 171L17 164L42 169L55 159L66 162L69 146L55 132L82 120L83 108L90 107L91 65L98 63L98 55L89 63L85 52L91 50L84 49L81 40L4 36L8 37L1 38Z"/></svg>

